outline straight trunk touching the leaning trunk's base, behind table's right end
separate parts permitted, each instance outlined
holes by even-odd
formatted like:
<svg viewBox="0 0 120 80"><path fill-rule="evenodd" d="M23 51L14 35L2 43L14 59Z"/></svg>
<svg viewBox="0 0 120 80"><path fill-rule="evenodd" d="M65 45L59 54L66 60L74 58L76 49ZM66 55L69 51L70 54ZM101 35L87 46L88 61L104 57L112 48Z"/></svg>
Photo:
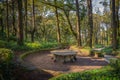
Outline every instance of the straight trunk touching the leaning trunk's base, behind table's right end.
<svg viewBox="0 0 120 80"><path fill-rule="evenodd" d="M76 17L77 17L77 45L82 46L82 44L81 44L81 27L80 27L80 15L79 15L78 0L76 0Z"/></svg>

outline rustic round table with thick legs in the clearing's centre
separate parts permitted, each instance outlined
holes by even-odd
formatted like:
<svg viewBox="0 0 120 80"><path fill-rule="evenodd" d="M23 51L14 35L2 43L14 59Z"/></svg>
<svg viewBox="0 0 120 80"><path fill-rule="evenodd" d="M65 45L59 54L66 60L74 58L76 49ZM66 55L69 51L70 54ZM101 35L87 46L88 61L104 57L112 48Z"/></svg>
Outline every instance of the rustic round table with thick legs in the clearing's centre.
<svg viewBox="0 0 120 80"><path fill-rule="evenodd" d="M53 60L54 62L74 62L76 61L76 54L77 52L72 51L72 50L54 50L51 51L53 54Z"/></svg>

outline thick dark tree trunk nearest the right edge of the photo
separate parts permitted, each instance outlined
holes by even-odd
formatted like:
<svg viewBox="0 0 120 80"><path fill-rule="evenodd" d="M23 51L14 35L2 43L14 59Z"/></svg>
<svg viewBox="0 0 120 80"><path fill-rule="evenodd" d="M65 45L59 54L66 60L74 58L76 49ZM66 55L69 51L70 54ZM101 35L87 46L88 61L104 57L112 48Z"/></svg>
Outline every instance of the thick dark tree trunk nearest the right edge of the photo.
<svg viewBox="0 0 120 80"><path fill-rule="evenodd" d="M115 13L115 0L111 0L111 5L112 5L112 46L113 49L117 49L117 27L116 27L116 13Z"/></svg>

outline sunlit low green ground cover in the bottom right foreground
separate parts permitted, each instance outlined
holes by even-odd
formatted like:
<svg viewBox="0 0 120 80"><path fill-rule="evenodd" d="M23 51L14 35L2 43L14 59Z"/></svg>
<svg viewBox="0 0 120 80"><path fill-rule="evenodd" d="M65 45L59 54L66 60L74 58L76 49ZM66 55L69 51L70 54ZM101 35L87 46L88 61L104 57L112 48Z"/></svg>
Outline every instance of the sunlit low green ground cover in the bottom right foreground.
<svg viewBox="0 0 120 80"><path fill-rule="evenodd" d="M112 68L89 70L78 73L63 74L50 80L119 80L120 73L116 74Z"/></svg>

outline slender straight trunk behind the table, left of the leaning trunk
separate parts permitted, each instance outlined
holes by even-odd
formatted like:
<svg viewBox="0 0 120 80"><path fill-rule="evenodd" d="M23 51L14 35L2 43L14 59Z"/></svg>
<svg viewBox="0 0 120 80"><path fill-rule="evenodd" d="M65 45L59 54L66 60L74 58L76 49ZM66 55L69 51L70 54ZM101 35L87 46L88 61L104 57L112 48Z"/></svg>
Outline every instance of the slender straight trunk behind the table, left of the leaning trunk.
<svg viewBox="0 0 120 80"><path fill-rule="evenodd" d="M55 0L56 4L56 0ZM59 18L58 18L58 9L55 7L55 14L56 14L56 26L57 26L57 40L58 43L61 43L61 37L60 37L60 26L59 26Z"/></svg>

